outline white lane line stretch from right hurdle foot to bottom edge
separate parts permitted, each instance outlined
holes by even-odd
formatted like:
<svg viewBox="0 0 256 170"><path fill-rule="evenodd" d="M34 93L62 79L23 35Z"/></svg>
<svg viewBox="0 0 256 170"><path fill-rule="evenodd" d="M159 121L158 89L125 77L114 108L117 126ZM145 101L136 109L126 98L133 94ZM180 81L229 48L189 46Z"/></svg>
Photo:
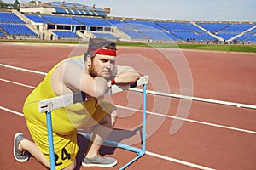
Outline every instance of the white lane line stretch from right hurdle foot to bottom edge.
<svg viewBox="0 0 256 170"><path fill-rule="evenodd" d="M176 163L179 163L179 164L183 164L183 165L186 165L186 166L189 166L189 167L195 167L195 168L198 168L198 169L214 170L214 169L212 169L210 167L203 167L201 165L196 165L195 163L190 163L188 161L178 160L176 158L172 158L172 157L168 157L168 156L162 156L160 154L156 154L156 153L153 153L153 152L150 152L150 151L146 151L146 155L158 157L158 158L164 159L166 161L173 161L173 162L176 162Z"/></svg>

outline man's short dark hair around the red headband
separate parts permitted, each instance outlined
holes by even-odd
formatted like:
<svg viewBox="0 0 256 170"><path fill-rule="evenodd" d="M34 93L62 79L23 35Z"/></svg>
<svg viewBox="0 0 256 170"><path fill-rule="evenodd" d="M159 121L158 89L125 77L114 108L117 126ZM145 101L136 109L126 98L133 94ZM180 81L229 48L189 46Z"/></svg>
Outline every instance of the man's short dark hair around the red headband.
<svg viewBox="0 0 256 170"><path fill-rule="evenodd" d="M95 57L96 54L92 53L91 51L96 51L99 48L107 48L107 49L117 50L116 44L114 42L111 42L102 37L90 38L88 49L84 53L84 58L86 58L88 55L90 55L91 57Z"/></svg>

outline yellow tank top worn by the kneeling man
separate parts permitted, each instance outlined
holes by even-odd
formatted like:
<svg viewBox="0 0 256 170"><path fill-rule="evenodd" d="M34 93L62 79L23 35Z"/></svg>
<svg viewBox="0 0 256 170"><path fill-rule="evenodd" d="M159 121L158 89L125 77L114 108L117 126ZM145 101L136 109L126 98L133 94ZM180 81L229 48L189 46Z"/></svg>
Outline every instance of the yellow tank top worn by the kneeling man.
<svg viewBox="0 0 256 170"><path fill-rule="evenodd" d="M38 84L38 87L26 98L23 112L27 121L46 125L45 114L38 112L38 101L57 96L51 88L51 76L56 67L65 61L75 62L81 67L84 66L84 56L65 59L55 65L44 77L44 80ZM93 113L90 110L94 110L95 108L91 107L91 105L96 106L96 100L88 100L84 103L77 103L52 111L53 132L66 135L76 131L77 128L83 126L86 118L88 118L88 114Z"/></svg>

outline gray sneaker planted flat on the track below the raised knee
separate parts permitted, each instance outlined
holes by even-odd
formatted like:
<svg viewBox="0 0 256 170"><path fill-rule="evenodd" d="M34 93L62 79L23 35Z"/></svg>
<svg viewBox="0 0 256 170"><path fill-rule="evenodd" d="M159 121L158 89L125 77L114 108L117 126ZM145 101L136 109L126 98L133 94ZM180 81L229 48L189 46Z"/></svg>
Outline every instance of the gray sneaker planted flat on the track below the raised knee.
<svg viewBox="0 0 256 170"><path fill-rule="evenodd" d="M111 157L95 156L86 158L82 161L84 167L113 167L117 164L117 160Z"/></svg>

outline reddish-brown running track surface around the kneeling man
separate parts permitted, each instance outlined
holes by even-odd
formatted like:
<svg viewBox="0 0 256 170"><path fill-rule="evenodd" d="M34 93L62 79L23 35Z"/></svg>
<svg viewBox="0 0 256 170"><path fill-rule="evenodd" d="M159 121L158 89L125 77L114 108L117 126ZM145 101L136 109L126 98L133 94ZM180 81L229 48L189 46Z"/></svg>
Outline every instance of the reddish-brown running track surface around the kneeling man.
<svg viewBox="0 0 256 170"><path fill-rule="evenodd" d="M83 54L85 49L1 43L0 64L47 72L56 62ZM150 90L255 105L256 54L127 47L119 47L118 54L118 64L149 75ZM13 157L14 134L23 132L30 138L22 116L23 102L44 75L3 66L0 71L1 168L44 169L34 158L20 163ZM142 109L142 95L124 92L107 99L119 108L117 130L109 139L139 147L137 127L142 125L142 113L132 109ZM148 94L147 111L147 153L127 169L256 169L255 110ZM174 116L186 120L174 122ZM171 127L177 128L172 135ZM79 141L82 156L87 141L81 136ZM119 164L110 169L118 169L136 156L119 148L103 147L101 152L118 158Z"/></svg>

